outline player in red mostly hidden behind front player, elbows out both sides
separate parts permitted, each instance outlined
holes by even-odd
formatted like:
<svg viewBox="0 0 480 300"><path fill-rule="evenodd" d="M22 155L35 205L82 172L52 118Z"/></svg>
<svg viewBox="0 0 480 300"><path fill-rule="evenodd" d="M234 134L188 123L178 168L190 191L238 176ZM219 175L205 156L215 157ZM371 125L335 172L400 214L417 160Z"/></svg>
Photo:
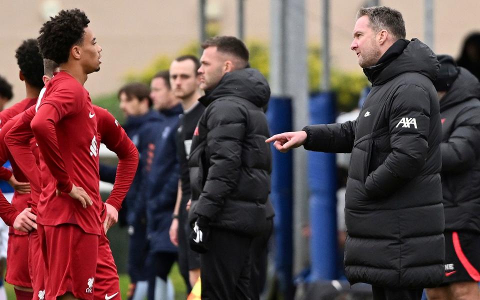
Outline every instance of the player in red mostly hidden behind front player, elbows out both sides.
<svg viewBox="0 0 480 300"><path fill-rule="evenodd" d="M51 61L45 59L45 75L47 76L44 76L44 78L46 77L48 79L48 76L51 77L54 68L55 65ZM47 84L46 87L50 88L50 85ZM39 103L41 103L40 100ZM37 106L39 106L38 104ZM124 130L106 109L93 105L93 112L97 118L98 143L101 140L101 142L110 150L114 151L119 158L113 190L105 204L101 206L102 210L98 212L101 219L104 220L104 229L101 229L98 260L94 278L95 288L93 290L95 299L112 299L115 296L116 298L119 297L119 295L117 295L119 292L119 282L117 270L105 232L106 229L117 220L121 201L124 198L136 171L138 152ZM29 141L33 137L29 124L34 115L34 107L31 107L31 109L25 111L24 114L13 118L5 125L5 130L8 130L5 141L11 152L14 153L13 156L20 161L20 167L26 170L31 169L31 165L34 165L35 162L34 155L29 146ZM0 137L2 133L3 132L0 132ZM30 176L33 177L30 178ZM27 176L32 185L32 193L39 189L39 181L35 176L37 175L35 175L35 172L33 171ZM52 180L52 178L50 177L49 180ZM42 178L43 182L49 180ZM99 179L97 179L97 182L98 180ZM36 197L32 197L34 200L36 199ZM35 204L36 203L33 203L32 205L33 209L35 209ZM108 211L108 208L111 208L111 210ZM43 287L43 265L41 263L41 257L38 257L38 251L35 251L38 246L35 244L32 245L32 236L34 233L35 231L33 230L30 234L30 273L32 275L34 289L33 299L41 300L45 294L45 289Z"/></svg>

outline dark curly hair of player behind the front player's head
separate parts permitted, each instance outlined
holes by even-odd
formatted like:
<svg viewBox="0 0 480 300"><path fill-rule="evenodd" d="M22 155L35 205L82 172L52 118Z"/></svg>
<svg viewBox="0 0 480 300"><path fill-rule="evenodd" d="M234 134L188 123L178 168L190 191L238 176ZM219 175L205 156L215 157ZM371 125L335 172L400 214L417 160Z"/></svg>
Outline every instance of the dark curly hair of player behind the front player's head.
<svg viewBox="0 0 480 300"><path fill-rule="evenodd" d="M43 58L41 58L36 39L24 40L16 49L15 57L25 81L30 85L42 88Z"/></svg>

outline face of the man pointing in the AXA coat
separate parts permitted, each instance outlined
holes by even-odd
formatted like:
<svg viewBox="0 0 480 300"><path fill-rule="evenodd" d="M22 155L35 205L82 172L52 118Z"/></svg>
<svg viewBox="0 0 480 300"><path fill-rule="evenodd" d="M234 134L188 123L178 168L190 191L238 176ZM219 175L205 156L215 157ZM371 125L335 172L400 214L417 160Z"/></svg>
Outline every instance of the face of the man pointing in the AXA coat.
<svg viewBox="0 0 480 300"><path fill-rule="evenodd" d="M377 32L370 27L368 16L363 15L356 20L350 49L355 51L358 64L362 68L375 65L380 59L381 51Z"/></svg>

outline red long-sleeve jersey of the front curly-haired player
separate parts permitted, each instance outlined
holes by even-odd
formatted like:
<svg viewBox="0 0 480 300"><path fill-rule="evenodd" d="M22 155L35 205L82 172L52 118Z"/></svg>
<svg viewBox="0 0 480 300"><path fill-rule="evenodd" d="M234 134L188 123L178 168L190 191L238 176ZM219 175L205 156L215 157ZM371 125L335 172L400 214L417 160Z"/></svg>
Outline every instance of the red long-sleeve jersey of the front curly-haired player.
<svg viewBox="0 0 480 300"><path fill-rule="evenodd" d="M48 82L30 127L40 150L43 181L37 222L77 224L86 233L100 234L97 120L88 92L70 74L58 72ZM56 184L44 182L49 174ZM86 191L92 206L83 208L68 195L73 184ZM57 189L62 193L57 195Z"/></svg>

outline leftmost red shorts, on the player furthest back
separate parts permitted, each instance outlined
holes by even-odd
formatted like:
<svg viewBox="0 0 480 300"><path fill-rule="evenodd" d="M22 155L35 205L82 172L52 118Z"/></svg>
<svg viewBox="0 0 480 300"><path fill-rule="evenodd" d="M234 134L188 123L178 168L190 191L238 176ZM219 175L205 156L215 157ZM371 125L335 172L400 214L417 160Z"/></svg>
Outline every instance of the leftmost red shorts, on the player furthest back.
<svg viewBox="0 0 480 300"><path fill-rule="evenodd" d="M8 233L5 281L17 286L31 287L28 270L28 235L14 234L11 230Z"/></svg>

